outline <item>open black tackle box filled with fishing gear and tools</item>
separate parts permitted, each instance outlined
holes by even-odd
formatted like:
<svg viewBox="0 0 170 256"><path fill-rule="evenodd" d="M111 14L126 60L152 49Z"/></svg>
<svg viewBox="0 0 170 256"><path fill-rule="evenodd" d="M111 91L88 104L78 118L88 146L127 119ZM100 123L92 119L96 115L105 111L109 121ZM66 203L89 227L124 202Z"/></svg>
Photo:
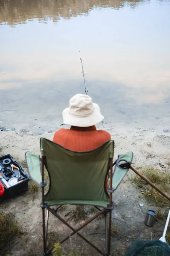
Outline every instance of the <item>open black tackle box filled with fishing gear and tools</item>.
<svg viewBox="0 0 170 256"><path fill-rule="evenodd" d="M1 198L13 198L28 190L28 175L10 154L0 157ZM4 190L4 192L3 192Z"/></svg>

